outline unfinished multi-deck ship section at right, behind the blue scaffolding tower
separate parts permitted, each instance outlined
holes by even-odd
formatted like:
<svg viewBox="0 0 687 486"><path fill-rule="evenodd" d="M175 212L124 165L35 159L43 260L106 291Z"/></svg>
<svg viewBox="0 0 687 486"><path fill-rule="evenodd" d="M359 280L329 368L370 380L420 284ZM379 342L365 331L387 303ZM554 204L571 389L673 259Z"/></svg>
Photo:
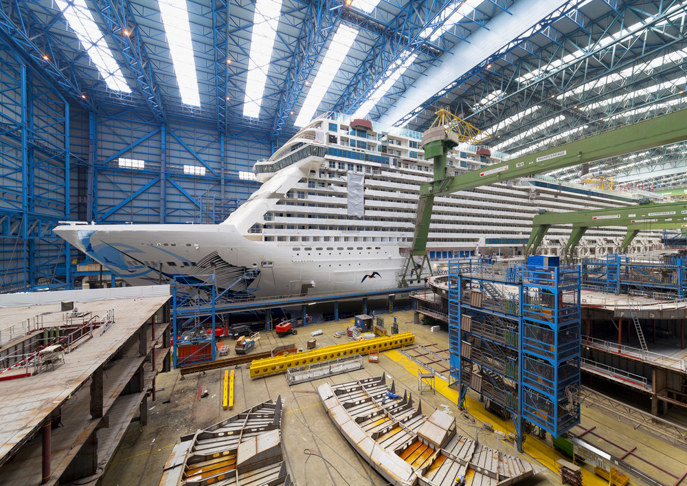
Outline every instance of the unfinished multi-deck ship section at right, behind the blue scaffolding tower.
<svg viewBox="0 0 687 486"><path fill-rule="evenodd" d="M494 265L489 276L504 283L506 289L513 277L508 274L510 267L510 263ZM487 276L486 270L472 269L462 276ZM448 281L447 275L430 277L427 289L411 294L416 322L421 316L448 322ZM499 285L493 286L495 294ZM581 369L587 377L600 377L645 393L651 398L654 415L665 412L668 404L685 406L680 387L670 386L687 384L685 299L666 300L666 294L653 293L617 295L587 288L581 289L580 304Z"/></svg>

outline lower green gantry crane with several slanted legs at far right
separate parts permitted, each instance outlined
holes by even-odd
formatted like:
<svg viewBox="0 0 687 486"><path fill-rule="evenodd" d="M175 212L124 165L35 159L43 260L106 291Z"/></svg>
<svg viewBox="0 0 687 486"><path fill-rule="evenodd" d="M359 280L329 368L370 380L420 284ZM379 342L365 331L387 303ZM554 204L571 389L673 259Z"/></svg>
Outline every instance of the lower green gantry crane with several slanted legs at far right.
<svg viewBox="0 0 687 486"><path fill-rule="evenodd" d="M532 252L536 252L548 229L552 225L564 224L572 224L570 239L565 245L566 256L572 253L587 229L592 226L627 226L627 234L620 245L620 252L624 253L642 230L687 228L687 202L640 203L624 208L537 214L532 220L532 233L525 252L528 253L530 248Z"/></svg>

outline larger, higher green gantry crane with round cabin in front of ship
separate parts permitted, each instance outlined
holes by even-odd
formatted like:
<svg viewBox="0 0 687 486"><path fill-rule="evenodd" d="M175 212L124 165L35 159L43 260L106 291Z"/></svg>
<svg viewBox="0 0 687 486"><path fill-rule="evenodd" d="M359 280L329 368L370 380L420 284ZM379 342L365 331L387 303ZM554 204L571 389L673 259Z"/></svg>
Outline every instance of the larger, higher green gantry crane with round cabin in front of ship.
<svg viewBox="0 0 687 486"><path fill-rule="evenodd" d="M440 110L442 111L444 110ZM444 111L444 113L448 112ZM440 116L444 117L444 121L446 120L445 114ZM488 186L495 182L527 177L585 162L594 162L655 146L682 142L687 140L687 109L673 111L673 113L657 116L651 120L622 126L619 129L591 135L581 140L516 157L454 177L446 175L447 153L460 140L450 128L450 124L447 127L446 124L434 120L431 128L423 135L425 158L433 159L434 163L434 180L420 188L413 247L405 265L403 279L405 283L420 280L425 268L429 269L427 236L436 196L449 195L459 190Z"/></svg>

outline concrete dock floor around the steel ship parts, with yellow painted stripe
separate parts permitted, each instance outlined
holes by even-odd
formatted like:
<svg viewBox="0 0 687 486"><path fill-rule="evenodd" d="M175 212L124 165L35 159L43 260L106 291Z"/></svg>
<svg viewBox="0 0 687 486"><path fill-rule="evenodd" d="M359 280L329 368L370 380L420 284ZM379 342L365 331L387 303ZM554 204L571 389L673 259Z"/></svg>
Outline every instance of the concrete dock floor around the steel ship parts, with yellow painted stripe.
<svg viewBox="0 0 687 486"><path fill-rule="evenodd" d="M396 317L399 331L414 333L417 344L438 343L443 348L448 348L448 333L446 331L431 332L428 326L414 324L413 311L383 314L381 317L385 319L387 328L391 327ZM318 329L322 329L323 334L315 337L317 348L341 344L350 338L337 339L334 338L334 333L345 330L351 324L352 318L326 324L308 324L306 327L298 328L297 335L284 338L279 338L273 332L262 332L256 352L269 351L279 344L291 342L306 349L306 342L313 339L311 331ZM227 344L232 344L233 347L233 343L227 342ZM230 355L234 355L233 350ZM425 415L431 415L431 407L441 408L455 417L459 434L468 437L475 437L475 434L478 434L480 442L493 448L498 447L502 452L515 454L513 445L497 441L492 432L481 428L482 422L486 421L497 430L511 432L513 423L504 423L485 412L482 404L476 399L469 399L466 404L467 411L472 417L460 412L456 407L458 390L449 388L448 384L439 378L436 379L436 394L425 392L420 396L417 377L419 367L420 365L399 351L386 351L380 354L379 364L368 363L365 359L364 369L330 377L328 380L333 383L343 383L385 373L387 384L391 384L392 379L396 382L397 393L401 390L403 394L403 388L405 388L412 392L414 397L422 399ZM289 473L297 485L386 483L379 474L370 471L370 466L352 450L325 415L319 396L313 392L317 390L318 384L327 379L290 387L286 384L285 374L251 379L249 370L245 366L240 366L236 368L234 410L223 410L222 377L223 369L208 371L205 375L202 373L187 375L185 379L180 379L179 371L159 375L157 400L148 401L148 425L140 427L138 423L132 423L104 476L104 485L157 485L172 447L181 435L210 426L243 412L261 401L275 399L278 395L285 399L282 446ZM209 393L200 401L197 399L199 387ZM671 474L679 477L687 472L687 452L684 450L632 430L631 427L616 419L609 419L583 406L582 427L588 429L594 426L597 427L598 433L611 437L614 443L628 445L628 448L641 445L641 454L646 461L662 465L664 470ZM521 484L560 484L561 479L556 473L555 463L563 456L552 449L550 444L550 437L545 441L539 441L532 436L527 437L523 445L524 458L545 466L547 470ZM614 450L608 450L608 452L617 453ZM650 471L651 467L647 466L646 470ZM660 472L651 472L658 481L675 483L675 479L670 481L671 476L662 477ZM583 470L583 473L585 486L608 484L608 481L594 475L588 467ZM630 478L633 484L644 484L640 478L631 474Z"/></svg>

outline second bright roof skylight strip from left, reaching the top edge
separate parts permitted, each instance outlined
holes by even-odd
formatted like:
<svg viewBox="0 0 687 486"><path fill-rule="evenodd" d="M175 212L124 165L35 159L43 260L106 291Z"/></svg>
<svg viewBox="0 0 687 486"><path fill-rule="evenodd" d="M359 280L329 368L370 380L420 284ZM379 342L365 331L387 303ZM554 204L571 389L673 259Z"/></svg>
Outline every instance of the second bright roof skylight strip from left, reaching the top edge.
<svg viewBox="0 0 687 486"><path fill-rule="evenodd" d="M186 0L157 0L170 47L181 102L201 106Z"/></svg>

